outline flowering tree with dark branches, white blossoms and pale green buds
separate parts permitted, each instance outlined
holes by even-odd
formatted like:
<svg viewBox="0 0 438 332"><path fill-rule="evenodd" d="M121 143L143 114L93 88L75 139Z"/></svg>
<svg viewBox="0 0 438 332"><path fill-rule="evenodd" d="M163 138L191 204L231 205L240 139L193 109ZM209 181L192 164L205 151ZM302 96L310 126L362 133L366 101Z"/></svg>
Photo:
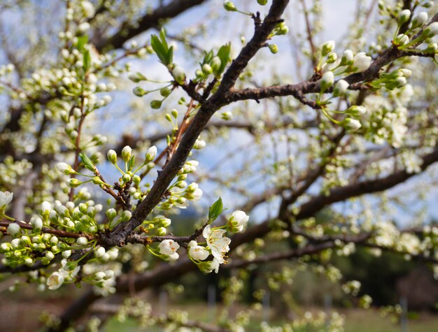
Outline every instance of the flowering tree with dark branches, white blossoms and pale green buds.
<svg viewBox="0 0 438 332"><path fill-rule="evenodd" d="M406 212L409 226L393 221L413 201L427 207L436 182L438 7L368 2L341 45L321 41L318 0L0 5L0 273L41 291L91 285L48 329L90 318L115 293L127 300L106 317L242 329L253 309L204 324L154 317L128 296L192 270L295 259L341 280L330 257L356 246L437 263L438 228L423 210ZM202 15L181 22L192 8ZM244 24L232 43L219 34L230 20ZM284 68L269 71L273 61ZM196 201L195 228L177 233L171 219ZM294 273L267 275L269 286ZM241 282L229 280L227 304ZM306 316L283 329L321 324Z"/></svg>

